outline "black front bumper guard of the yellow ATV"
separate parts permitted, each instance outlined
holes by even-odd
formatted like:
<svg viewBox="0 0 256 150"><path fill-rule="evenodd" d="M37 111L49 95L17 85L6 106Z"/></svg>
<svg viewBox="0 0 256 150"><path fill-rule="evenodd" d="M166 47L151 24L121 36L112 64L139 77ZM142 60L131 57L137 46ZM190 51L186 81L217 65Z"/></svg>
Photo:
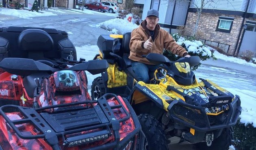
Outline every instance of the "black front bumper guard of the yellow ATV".
<svg viewBox="0 0 256 150"><path fill-rule="evenodd" d="M215 116L207 115L202 106L194 106L178 100L172 101L167 109L174 122L195 129L195 131L206 132L232 127L236 124L242 110L239 96L236 95L228 106L228 110ZM213 123L213 120L220 116L226 117L223 122Z"/></svg>

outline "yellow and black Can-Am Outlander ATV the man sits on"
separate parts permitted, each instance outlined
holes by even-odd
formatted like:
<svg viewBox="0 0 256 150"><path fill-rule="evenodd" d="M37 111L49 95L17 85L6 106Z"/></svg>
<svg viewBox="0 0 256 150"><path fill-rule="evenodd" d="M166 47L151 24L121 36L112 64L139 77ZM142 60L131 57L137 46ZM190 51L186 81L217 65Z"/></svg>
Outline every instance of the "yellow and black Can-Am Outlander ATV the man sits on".
<svg viewBox="0 0 256 150"><path fill-rule="evenodd" d="M129 97L147 138L147 149L192 143L200 150L228 150L231 127L241 114L240 97L209 80L197 81L191 71L200 63L197 56L177 61L155 53L143 56L163 65L150 75L150 84L137 82L128 59L129 42L130 33L98 38L100 54L94 59L106 59L109 68L93 80L92 99L105 93Z"/></svg>

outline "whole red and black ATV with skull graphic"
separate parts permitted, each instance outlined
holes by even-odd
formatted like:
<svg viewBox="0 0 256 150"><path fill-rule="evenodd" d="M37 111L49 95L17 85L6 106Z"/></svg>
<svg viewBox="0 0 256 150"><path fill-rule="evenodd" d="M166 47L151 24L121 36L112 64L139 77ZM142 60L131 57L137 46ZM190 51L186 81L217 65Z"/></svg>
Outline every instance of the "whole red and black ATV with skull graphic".
<svg viewBox="0 0 256 150"><path fill-rule="evenodd" d="M65 31L0 28L0 149L135 149L146 145L126 99L92 101L87 76L105 60L76 59Z"/></svg>

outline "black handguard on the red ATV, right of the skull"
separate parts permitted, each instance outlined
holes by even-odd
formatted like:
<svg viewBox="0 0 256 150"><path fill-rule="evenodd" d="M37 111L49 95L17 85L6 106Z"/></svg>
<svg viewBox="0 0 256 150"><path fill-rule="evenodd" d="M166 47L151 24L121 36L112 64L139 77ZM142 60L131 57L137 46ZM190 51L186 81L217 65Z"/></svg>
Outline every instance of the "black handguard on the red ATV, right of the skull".
<svg viewBox="0 0 256 150"><path fill-rule="evenodd" d="M74 65L67 70L79 71L79 70L87 70L91 74L100 74L108 68L108 62L106 60L89 60L84 63L79 63Z"/></svg>

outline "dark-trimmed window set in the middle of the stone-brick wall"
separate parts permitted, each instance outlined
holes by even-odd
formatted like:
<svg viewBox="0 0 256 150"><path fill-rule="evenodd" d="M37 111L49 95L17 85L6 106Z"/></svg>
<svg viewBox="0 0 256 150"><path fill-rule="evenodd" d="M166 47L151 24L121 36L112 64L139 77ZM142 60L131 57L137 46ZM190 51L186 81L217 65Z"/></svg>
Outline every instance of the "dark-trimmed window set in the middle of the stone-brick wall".
<svg viewBox="0 0 256 150"><path fill-rule="evenodd" d="M219 17L216 31L230 33L233 21L234 18L231 17Z"/></svg>

